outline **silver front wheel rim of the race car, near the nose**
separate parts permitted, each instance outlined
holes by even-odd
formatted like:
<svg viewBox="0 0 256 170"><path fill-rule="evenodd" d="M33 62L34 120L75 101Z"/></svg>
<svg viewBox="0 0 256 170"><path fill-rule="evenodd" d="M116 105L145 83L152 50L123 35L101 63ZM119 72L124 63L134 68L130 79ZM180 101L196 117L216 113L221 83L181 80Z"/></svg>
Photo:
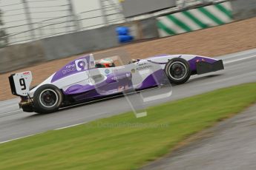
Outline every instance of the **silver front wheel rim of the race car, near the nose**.
<svg viewBox="0 0 256 170"><path fill-rule="evenodd" d="M169 75L174 80L182 80L186 77L186 74L188 72L188 69L185 64L183 64L180 61L176 61L172 63L169 67Z"/></svg>

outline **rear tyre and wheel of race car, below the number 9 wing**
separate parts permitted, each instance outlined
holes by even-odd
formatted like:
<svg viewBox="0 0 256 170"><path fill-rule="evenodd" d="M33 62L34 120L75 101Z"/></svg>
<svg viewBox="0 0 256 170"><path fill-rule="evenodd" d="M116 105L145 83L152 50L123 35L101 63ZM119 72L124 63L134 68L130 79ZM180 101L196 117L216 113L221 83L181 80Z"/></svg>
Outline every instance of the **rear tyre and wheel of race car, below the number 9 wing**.
<svg viewBox="0 0 256 170"><path fill-rule="evenodd" d="M36 89L33 95L35 112L50 113L56 112L63 100L62 92L56 86L45 84Z"/></svg>

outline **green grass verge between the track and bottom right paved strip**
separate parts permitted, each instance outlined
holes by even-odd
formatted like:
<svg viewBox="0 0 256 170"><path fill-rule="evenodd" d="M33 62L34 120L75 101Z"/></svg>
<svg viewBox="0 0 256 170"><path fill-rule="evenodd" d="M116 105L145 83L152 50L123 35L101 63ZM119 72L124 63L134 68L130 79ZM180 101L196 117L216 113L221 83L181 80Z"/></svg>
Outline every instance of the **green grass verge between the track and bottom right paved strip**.
<svg viewBox="0 0 256 170"><path fill-rule="evenodd" d="M256 83L244 84L14 140L0 145L0 169L137 169L255 101Z"/></svg>

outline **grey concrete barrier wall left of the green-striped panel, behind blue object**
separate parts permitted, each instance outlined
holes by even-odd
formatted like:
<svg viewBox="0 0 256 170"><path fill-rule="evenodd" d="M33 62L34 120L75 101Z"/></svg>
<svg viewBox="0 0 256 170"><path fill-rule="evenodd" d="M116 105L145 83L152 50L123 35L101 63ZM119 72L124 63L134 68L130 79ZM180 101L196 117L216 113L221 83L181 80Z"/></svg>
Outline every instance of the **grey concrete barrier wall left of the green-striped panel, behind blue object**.
<svg viewBox="0 0 256 170"><path fill-rule="evenodd" d="M140 32L138 40L158 37L154 18L137 21L137 24L137 31ZM0 73L42 61L118 47L120 44L115 29L116 25L111 25L1 48Z"/></svg>

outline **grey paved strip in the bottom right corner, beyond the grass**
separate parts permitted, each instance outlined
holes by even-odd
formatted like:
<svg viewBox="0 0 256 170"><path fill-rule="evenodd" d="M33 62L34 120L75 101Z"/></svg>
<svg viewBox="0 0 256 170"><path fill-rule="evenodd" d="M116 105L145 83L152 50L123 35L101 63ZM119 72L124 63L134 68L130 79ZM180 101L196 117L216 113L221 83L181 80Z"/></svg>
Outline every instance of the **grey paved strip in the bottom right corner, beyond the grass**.
<svg viewBox="0 0 256 170"><path fill-rule="evenodd" d="M141 170L255 170L256 105L203 132L202 138Z"/></svg>

